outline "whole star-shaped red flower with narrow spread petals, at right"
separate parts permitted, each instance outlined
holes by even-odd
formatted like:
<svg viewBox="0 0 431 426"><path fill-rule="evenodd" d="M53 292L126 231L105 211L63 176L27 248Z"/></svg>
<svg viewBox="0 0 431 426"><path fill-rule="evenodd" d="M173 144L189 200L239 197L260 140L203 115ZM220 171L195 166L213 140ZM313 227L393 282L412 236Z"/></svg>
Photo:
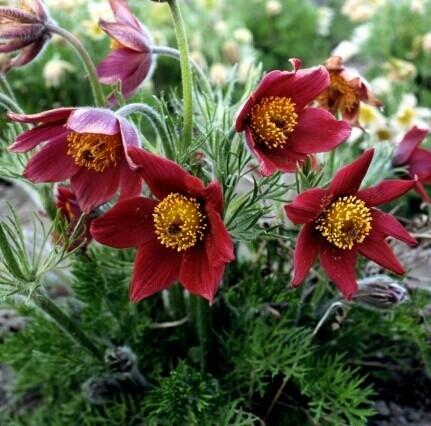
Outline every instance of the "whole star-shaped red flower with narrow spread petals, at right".
<svg viewBox="0 0 431 426"><path fill-rule="evenodd" d="M395 217L375 206L400 197L415 182L386 180L360 190L373 155L373 150L366 151L356 161L341 168L328 189L310 189L285 206L292 222L304 224L293 259L294 287L304 281L317 257L346 298L351 298L357 290L355 263L358 253L396 274L405 273L385 238L391 236L411 245L416 240Z"/></svg>

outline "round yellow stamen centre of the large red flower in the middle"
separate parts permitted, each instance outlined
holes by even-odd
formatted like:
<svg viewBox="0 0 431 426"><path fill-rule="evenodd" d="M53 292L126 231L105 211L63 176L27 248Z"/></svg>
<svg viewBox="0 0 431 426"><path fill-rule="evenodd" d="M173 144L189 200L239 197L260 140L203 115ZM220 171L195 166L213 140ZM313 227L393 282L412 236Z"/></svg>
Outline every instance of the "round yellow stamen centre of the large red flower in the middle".
<svg viewBox="0 0 431 426"><path fill-rule="evenodd" d="M204 236L205 216L195 198L169 194L157 204L153 218L157 239L177 251L193 247Z"/></svg>

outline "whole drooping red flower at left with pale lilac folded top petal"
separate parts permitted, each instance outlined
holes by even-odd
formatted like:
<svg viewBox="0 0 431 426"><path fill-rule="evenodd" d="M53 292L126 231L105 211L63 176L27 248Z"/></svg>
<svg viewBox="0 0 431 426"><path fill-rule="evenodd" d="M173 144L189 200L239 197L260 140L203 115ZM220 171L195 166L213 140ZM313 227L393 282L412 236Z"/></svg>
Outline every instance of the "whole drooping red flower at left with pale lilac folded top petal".
<svg viewBox="0 0 431 426"><path fill-rule="evenodd" d="M89 213L110 200L120 188L127 198L141 191L141 179L127 155L138 135L123 117L101 108L58 108L39 114L9 113L21 123L36 124L9 147L27 152L43 143L27 163L24 176L34 183L70 178L81 209Z"/></svg>

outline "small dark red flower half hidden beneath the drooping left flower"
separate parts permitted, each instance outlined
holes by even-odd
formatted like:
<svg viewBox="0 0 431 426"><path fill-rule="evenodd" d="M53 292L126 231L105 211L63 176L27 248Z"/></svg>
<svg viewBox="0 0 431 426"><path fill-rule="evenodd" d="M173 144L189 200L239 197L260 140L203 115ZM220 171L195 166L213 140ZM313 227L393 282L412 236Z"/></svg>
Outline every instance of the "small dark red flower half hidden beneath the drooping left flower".
<svg viewBox="0 0 431 426"><path fill-rule="evenodd" d="M65 186L59 186L57 188L55 204L60 210L62 217L69 224L69 233L76 233L75 228L84 213L79 207L78 200L73 191ZM85 216L82 219L83 229L78 231L78 238L73 242L70 250L73 250L80 245L86 247L90 243L92 240L90 233L90 224L92 220L93 218L91 216Z"/></svg>

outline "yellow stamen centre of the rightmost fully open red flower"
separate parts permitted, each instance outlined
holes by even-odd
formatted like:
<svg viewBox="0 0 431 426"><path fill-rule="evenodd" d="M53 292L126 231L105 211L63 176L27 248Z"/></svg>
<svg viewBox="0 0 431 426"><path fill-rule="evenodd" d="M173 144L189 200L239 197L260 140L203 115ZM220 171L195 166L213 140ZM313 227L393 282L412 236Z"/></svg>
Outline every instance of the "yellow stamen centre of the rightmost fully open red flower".
<svg viewBox="0 0 431 426"><path fill-rule="evenodd" d="M371 231L371 211L365 202L349 195L328 206L317 219L316 229L340 249L351 250Z"/></svg>

